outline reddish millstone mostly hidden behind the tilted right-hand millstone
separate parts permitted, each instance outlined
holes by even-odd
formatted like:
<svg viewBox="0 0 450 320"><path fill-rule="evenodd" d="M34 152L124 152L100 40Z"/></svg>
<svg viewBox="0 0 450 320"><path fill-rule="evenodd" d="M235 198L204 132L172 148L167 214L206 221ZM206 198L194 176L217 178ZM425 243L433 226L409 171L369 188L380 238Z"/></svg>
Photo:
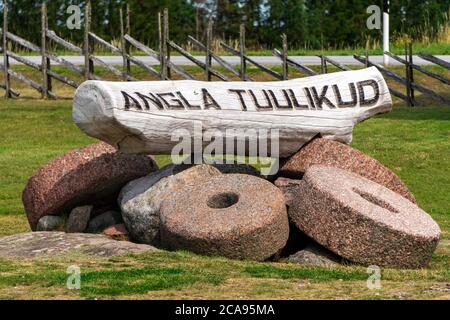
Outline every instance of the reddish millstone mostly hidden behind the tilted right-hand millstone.
<svg viewBox="0 0 450 320"><path fill-rule="evenodd" d="M416 203L403 181L378 160L333 140L316 138L281 163L279 176L299 179L313 165L325 165L354 172Z"/></svg>

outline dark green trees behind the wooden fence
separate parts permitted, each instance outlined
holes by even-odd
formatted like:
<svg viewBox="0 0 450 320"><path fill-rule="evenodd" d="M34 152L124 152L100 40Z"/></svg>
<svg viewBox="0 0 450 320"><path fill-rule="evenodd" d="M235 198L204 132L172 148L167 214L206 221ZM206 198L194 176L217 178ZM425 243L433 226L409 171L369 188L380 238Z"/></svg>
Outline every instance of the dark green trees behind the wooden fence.
<svg viewBox="0 0 450 320"><path fill-rule="evenodd" d="M6 1L6 0L5 0ZM9 29L36 44L40 42L41 2L7 0ZM49 25L60 36L75 43L83 41L83 29L69 30L67 8L85 0L45 0ZM186 43L187 35L204 39L207 21L213 19L214 35L237 39L245 23L249 45L279 46L286 33L291 47L342 48L364 46L368 38L381 39L380 30L368 30L366 8L382 7L382 0L91 0L92 30L111 41L120 36L119 10L131 8L131 34L138 40L158 43L157 13L170 12L170 37ZM391 28L394 36L408 34L433 40L449 23L450 0L392 0ZM3 4L0 4L3 11Z"/></svg>

